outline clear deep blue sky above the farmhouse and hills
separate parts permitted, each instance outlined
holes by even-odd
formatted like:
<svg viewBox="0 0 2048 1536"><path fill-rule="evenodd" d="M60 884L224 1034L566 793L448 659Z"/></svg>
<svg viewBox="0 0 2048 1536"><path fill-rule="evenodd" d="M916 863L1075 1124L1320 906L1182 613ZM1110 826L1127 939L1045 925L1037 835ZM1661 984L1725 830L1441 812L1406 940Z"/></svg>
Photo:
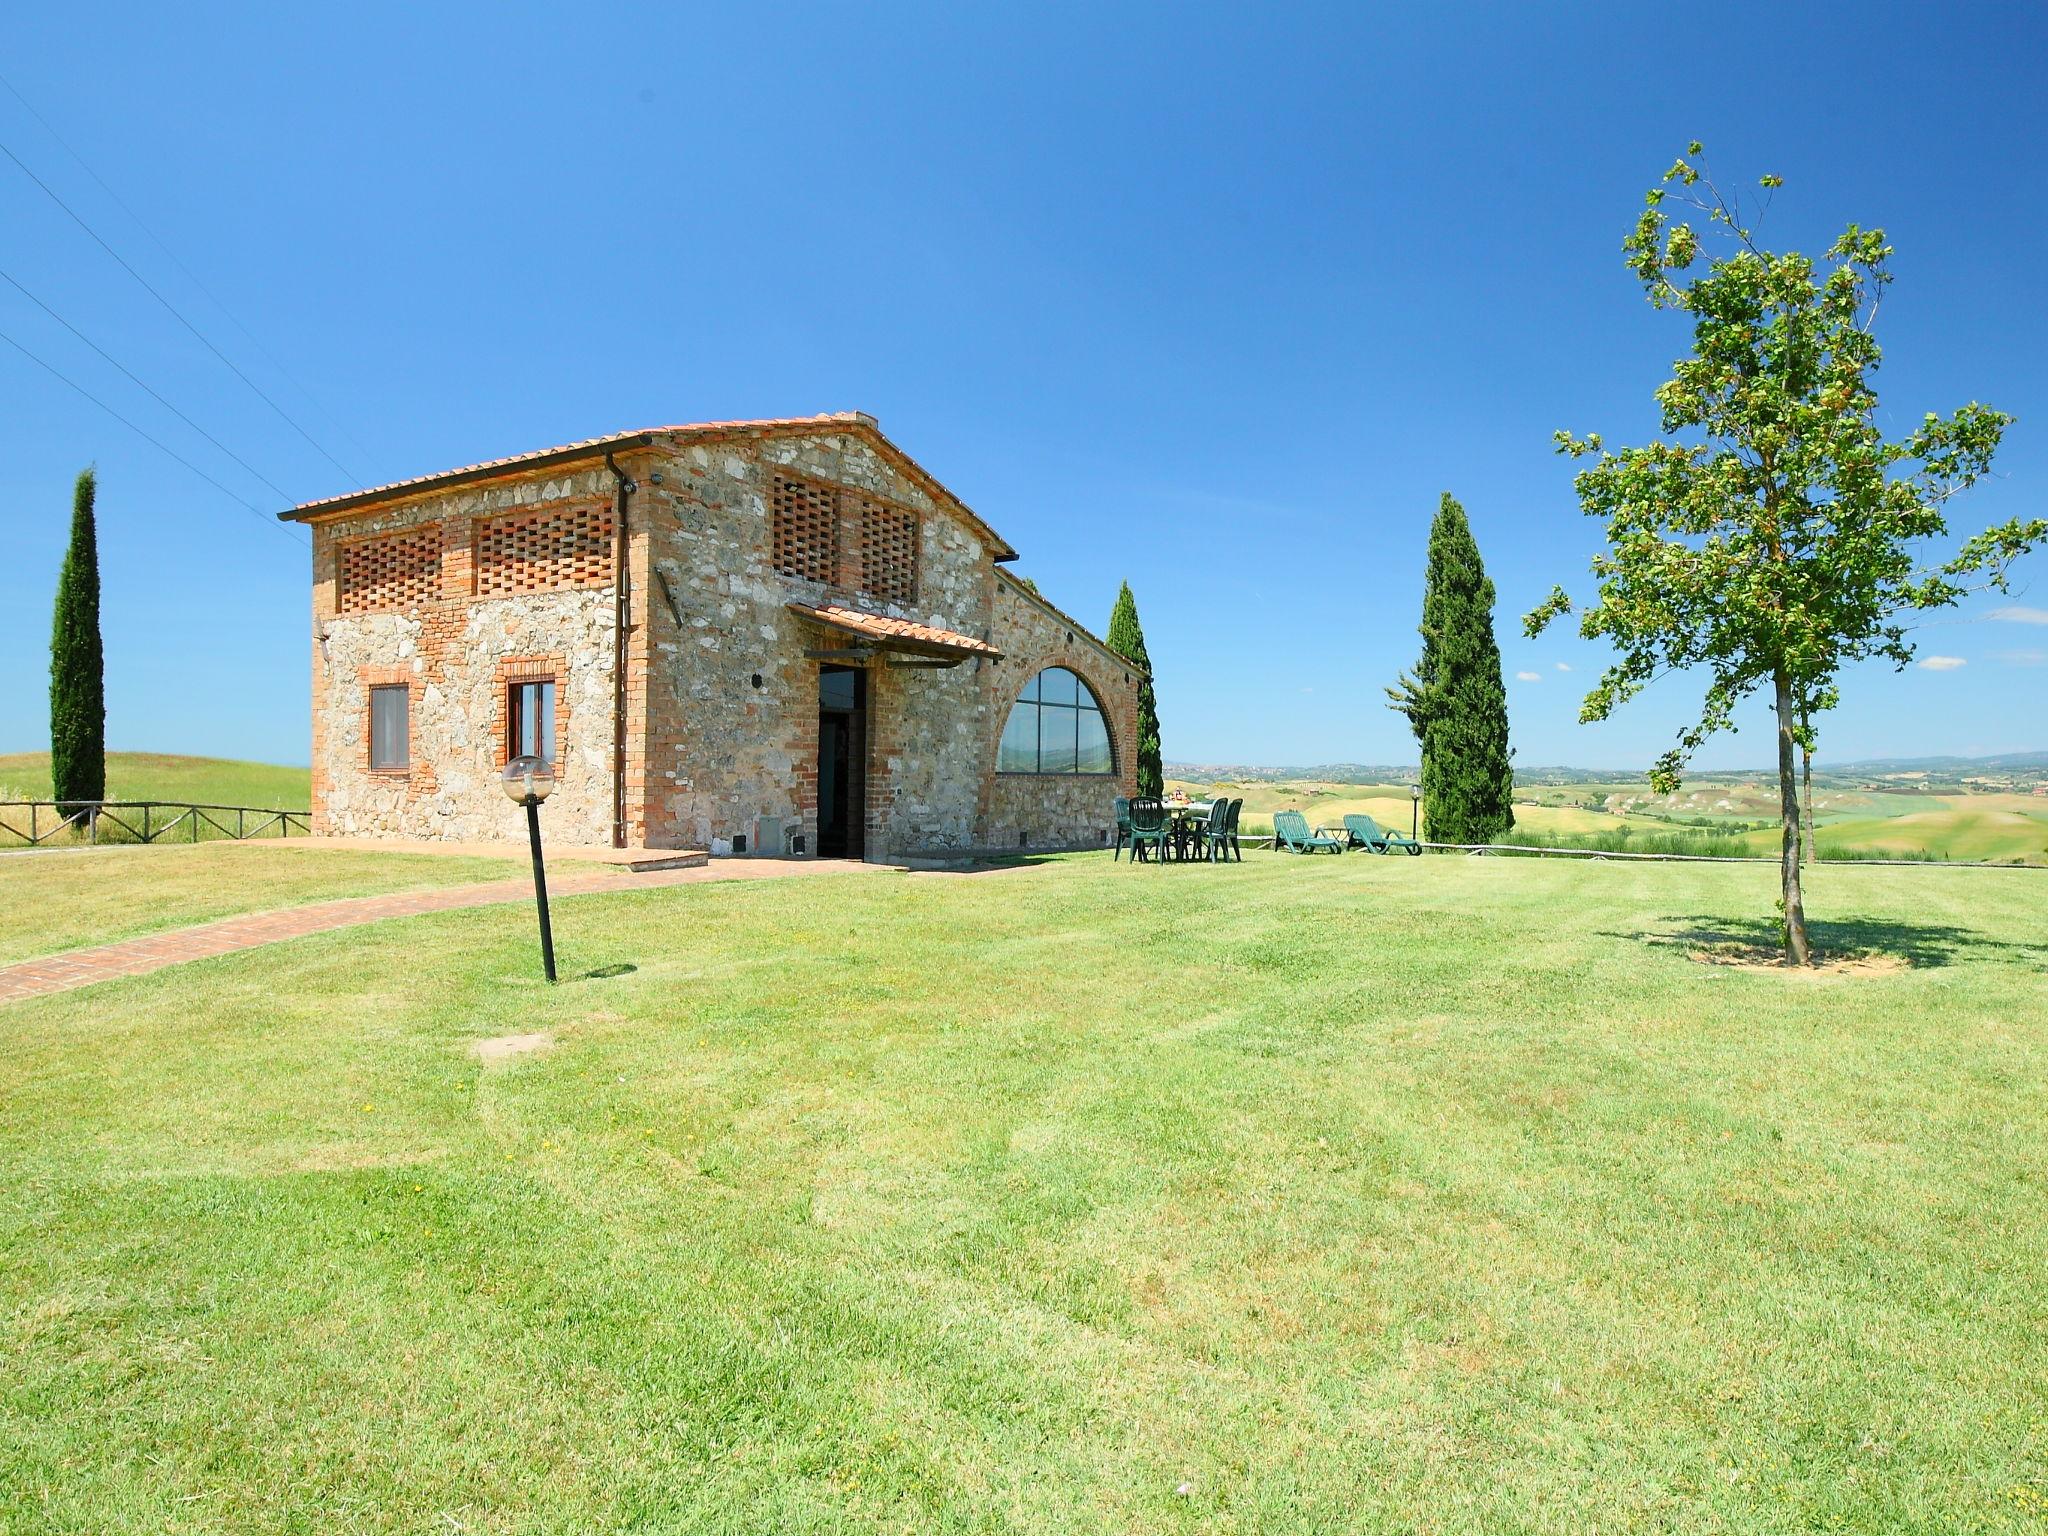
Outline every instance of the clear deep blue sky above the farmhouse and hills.
<svg viewBox="0 0 2048 1536"><path fill-rule="evenodd" d="M1257 10L16 8L0 72L184 266L6 90L0 143L319 449L4 158L0 268L293 500L352 483L322 449L377 483L872 412L1061 606L1102 627L1130 580L1167 756L1206 762L1413 758L1380 688L1444 489L1499 586L1520 760L1669 743L1694 680L1581 727L1599 651L1516 621L1595 547L1550 434L1655 432L1686 332L1620 240L1692 137L1786 178L1772 244L1888 229L1890 422L2013 412L1958 526L2048 508L2044 12ZM279 506L4 283L0 330ZM0 752L45 745L88 461L111 743L303 762L303 537L6 346ZM2048 557L2019 580L1921 633L1960 666L1853 674L1823 756L2048 748ZM1743 719L1702 764L1767 762Z"/></svg>

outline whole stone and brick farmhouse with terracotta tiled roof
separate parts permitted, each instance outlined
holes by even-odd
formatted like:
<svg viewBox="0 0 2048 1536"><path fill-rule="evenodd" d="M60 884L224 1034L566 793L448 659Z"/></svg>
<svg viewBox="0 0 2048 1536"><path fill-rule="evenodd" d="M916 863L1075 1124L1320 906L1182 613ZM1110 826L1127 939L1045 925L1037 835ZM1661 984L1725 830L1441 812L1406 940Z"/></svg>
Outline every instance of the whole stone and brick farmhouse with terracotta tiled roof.
<svg viewBox="0 0 2048 1536"><path fill-rule="evenodd" d="M1083 848L1139 674L846 412L698 422L281 514L313 535L313 829L893 858Z"/></svg>

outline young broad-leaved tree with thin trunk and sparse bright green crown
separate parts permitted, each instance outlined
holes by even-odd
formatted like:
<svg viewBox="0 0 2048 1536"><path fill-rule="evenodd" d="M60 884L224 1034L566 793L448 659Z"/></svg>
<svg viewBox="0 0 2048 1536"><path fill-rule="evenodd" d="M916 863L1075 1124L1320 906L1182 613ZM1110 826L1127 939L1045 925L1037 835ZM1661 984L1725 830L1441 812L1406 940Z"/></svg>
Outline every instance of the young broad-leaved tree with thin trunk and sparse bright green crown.
<svg viewBox="0 0 2048 1536"><path fill-rule="evenodd" d="M1761 184L1776 190L1782 180ZM1706 256L1700 231L1683 215L1673 221L1667 201L1704 217L1724 246L1704 272L1694 274ZM1886 440L1870 383L1878 299L1890 283L1884 231L1851 223L1817 264L1763 250L1753 223L1690 145L1624 242L1649 301L1692 315L1692 354L1657 389L1663 432L1686 440L1608 451L1599 436L1559 432L1556 444L1593 461L1573 483L1608 532L1593 557L1599 600L1579 633L1612 643L1616 662L1581 719L1606 719L1663 672L1704 668L1698 721L1651 770L1651 786L1669 793L1698 745L1733 729L1735 707L1769 692L1784 952L1786 965L1808 965L1794 758L1812 745L1812 715L1833 702L1843 666L1913 659L1907 614L1954 604L1972 578L2003 590L2007 565L2048 522L2013 518L1948 559L1921 559L1948 535L1948 500L1991 469L2011 418L1972 401ZM1528 633L1565 612L1571 600L1552 590Z"/></svg>

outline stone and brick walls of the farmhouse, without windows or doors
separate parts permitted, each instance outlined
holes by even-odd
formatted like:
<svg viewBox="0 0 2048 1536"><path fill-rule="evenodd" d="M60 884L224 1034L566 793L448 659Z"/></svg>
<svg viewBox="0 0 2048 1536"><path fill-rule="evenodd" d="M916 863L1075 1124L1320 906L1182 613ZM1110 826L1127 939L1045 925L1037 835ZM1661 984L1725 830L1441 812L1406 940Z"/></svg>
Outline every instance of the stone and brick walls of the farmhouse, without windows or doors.
<svg viewBox="0 0 2048 1536"><path fill-rule="evenodd" d="M866 664L868 858L1108 840L1110 803L1135 782L1135 676L1001 573L987 528L885 438L850 426L735 428L623 451L618 463L637 485L625 549L629 844L731 852L745 838L750 852L784 852L801 836L815 852L821 664L805 651L854 641L793 614L791 602L913 618L1004 651L999 662L954 668L903 666L887 653ZM915 600L885 604L778 571L770 516L778 471L913 514ZM610 471L586 465L512 473L313 524L317 831L520 836L520 813L498 788L506 688L514 678L553 676L559 786L547 831L557 842L610 842L616 541L606 555L596 530L612 526L612 496ZM545 522L522 522L512 537L492 522L510 512ZM483 526L498 535L479 541ZM350 598L340 604L338 551L408 532L410 541L350 557ZM530 563L508 578L502 561L514 547ZM565 551L559 561L555 549ZM498 561L481 586L502 596L477 594L479 551ZM545 586L549 571L573 586L506 590ZM387 584L385 608L365 604L365 580ZM1094 688L1114 774L995 774L1010 705L1047 666L1067 666ZM369 690L379 684L410 688L406 772L369 766Z"/></svg>

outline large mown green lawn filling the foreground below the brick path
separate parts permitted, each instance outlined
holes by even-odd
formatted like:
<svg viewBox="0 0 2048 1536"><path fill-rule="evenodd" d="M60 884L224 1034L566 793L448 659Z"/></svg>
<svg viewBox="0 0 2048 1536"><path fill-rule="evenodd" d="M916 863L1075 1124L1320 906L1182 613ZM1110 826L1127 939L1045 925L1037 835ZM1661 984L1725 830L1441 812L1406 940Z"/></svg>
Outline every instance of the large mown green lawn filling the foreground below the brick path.
<svg viewBox="0 0 2048 1536"><path fill-rule="evenodd" d="M2042 1532L2048 877L1810 899L1913 965L1085 856L0 1006L0 1528Z"/></svg>

